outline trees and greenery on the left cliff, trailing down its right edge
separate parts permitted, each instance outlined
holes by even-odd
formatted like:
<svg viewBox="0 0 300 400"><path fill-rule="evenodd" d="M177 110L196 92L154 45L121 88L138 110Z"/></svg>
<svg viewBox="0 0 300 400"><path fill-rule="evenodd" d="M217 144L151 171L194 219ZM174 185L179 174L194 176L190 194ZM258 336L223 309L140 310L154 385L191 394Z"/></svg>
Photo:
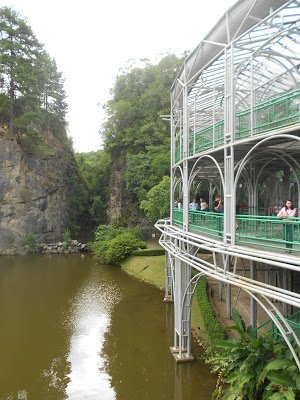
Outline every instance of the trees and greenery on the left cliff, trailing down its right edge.
<svg viewBox="0 0 300 400"><path fill-rule="evenodd" d="M78 234L88 220L88 200L67 137L66 112L64 79L55 61L16 11L0 7L1 137L16 141L33 159L58 157L69 182L69 228ZM49 168L46 180L57 173ZM20 197L28 203L32 188L21 188Z"/></svg>

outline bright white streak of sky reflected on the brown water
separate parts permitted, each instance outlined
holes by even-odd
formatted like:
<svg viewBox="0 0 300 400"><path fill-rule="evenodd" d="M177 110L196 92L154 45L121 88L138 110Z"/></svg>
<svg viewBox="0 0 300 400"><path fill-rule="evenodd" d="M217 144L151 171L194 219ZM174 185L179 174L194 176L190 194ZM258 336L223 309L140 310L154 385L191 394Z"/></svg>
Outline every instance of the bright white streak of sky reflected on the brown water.
<svg viewBox="0 0 300 400"><path fill-rule="evenodd" d="M94 271L96 272L96 271ZM104 333L110 323L112 306L118 301L115 287L99 284L92 274L84 288L72 301L73 334L68 361L71 364L70 382L66 392L70 400L114 400L111 378L104 371L104 359L99 352Z"/></svg>

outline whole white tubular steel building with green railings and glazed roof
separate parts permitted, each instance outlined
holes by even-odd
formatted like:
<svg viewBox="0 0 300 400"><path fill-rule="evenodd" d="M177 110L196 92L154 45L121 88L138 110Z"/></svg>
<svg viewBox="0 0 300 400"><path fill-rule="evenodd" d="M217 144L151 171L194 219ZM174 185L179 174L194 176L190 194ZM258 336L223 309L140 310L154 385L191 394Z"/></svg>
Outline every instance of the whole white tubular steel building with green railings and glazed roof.
<svg viewBox="0 0 300 400"><path fill-rule="evenodd" d="M156 227L166 250L165 299L175 307L176 360L192 358L191 302L205 275L225 285L228 318L231 287L243 289L252 324L259 305L300 369L293 347L300 330L288 318L300 307L300 218L287 225L276 216L287 198L300 207L300 0L231 7L185 60L170 120L171 215ZM222 213L213 212L217 193ZM189 209L198 195L209 212ZM201 249L212 261L198 256ZM239 273L241 262L248 275Z"/></svg>

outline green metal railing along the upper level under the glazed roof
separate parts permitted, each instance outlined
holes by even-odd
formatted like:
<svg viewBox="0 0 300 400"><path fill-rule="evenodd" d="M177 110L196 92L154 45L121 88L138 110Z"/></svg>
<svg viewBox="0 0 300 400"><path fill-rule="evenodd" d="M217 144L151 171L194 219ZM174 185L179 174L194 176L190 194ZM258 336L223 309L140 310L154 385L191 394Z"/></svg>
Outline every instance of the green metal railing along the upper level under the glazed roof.
<svg viewBox="0 0 300 400"><path fill-rule="evenodd" d="M253 108L236 113L236 140L258 135L300 122L300 89L273 97ZM252 131L251 131L252 120ZM224 143L224 120L206 126L189 135L189 154L219 147ZM175 162L182 159L179 143L175 149Z"/></svg>

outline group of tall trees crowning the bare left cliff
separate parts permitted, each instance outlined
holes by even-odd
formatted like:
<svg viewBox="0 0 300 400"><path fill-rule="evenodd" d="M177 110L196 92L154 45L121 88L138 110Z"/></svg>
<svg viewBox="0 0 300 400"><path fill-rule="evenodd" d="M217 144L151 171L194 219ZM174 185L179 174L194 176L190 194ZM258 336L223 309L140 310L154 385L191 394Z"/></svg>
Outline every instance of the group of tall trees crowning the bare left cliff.
<svg viewBox="0 0 300 400"><path fill-rule="evenodd" d="M0 8L0 123L9 135L38 140L38 128L65 136L67 104L62 74L30 26L14 10Z"/></svg>

